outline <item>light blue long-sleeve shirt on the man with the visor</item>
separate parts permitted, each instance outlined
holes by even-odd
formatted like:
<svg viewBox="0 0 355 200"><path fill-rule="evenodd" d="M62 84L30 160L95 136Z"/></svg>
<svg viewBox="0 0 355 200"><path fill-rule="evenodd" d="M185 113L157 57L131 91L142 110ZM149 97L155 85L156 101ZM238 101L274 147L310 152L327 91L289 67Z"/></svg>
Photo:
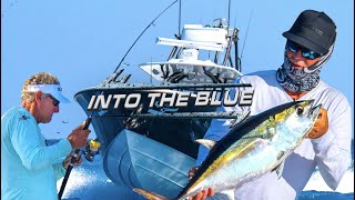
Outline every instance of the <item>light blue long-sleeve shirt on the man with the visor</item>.
<svg viewBox="0 0 355 200"><path fill-rule="evenodd" d="M64 176L69 140L47 147L45 139L24 108L1 117L1 199L57 200L57 180Z"/></svg>

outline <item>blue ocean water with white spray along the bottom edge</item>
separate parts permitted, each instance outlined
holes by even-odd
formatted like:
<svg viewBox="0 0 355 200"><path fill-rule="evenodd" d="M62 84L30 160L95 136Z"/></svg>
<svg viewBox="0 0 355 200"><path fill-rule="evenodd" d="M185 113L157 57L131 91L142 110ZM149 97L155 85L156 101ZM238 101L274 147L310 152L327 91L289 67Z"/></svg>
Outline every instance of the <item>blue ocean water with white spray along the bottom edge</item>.
<svg viewBox="0 0 355 200"><path fill-rule="evenodd" d="M354 142L353 144L354 146ZM62 180L58 181L58 189ZM83 162L74 168L67 183L63 199L67 200L111 200L133 199L143 200L141 196L124 186L114 184L104 173L102 158L97 156L94 161ZM336 191L332 191L318 171L315 171L305 190L297 200L351 200L354 199L354 147L352 148L352 164L343 177Z"/></svg>

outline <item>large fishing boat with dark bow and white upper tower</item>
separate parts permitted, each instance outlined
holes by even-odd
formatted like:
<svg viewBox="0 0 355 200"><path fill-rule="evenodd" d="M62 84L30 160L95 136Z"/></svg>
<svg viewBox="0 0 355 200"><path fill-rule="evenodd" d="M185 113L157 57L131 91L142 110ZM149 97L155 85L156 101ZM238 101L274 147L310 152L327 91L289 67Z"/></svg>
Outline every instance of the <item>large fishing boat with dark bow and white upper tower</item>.
<svg viewBox="0 0 355 200"><path fill-rule="evenodd" d="M114 183L175 197L195 164L199 144L194 140L203 138L211 120L248 114L216 112L217 103L209 104L221 102L223 92L236 87L232 82L242 76L235 57L237 33L223 19L211 26L185 24L174 39L156 39L158 44L172 47L168 61L138 68L160 83L130 82L131 74L120 70L74 96L92 116L103 168ZM204 107L193 103L201 91L211 94ZM154 100L152 93L158 93ZM176 106L178 97L187 97L185 106Z"/></svg>

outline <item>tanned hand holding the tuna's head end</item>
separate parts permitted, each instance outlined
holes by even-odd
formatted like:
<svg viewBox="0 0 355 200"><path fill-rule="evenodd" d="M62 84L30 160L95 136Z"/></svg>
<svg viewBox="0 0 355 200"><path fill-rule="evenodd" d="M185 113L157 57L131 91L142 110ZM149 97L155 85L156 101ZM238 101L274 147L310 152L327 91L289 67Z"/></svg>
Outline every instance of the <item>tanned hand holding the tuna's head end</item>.
<svg viewBox="0 0 355 200"><path fill-rule="evenodd" d="M325 134L326 131L328 131L328 114L327 111L322 108L318 118L313 126L313 129L306 136L306 138L316 139Z"/></svg>

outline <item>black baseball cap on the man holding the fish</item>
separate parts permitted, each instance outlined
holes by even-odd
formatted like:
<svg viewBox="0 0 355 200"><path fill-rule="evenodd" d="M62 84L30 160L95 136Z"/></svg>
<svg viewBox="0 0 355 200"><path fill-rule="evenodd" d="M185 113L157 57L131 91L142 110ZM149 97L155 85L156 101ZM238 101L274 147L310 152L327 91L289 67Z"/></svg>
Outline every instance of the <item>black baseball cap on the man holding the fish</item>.
<svg viewBox="0 0 355 200"><path fill-rule="evenodd" d="M335 41L336 26L324 12L305 10L282 36L323 56Z"/></svg>

